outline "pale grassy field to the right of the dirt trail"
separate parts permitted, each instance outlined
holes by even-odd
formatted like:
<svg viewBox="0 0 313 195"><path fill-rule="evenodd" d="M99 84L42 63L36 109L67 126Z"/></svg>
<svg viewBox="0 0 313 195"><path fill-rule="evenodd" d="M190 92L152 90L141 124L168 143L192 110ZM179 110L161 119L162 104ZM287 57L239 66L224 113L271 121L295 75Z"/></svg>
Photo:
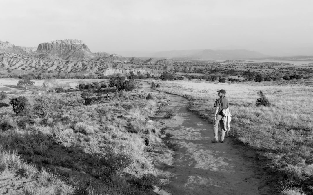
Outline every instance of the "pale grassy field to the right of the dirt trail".
<svg viewBox="0 0 313 195"><path fill-rule="evenodd" d="M279 175L282 194L313 194L313 81L217 83L153 81L163 92L192 100L188 109L208 122L214 120L217 90L225 89L233 115L230 134L270 160ZM256 106L262 90L271 106ZM213 134L213 132L212 132ZM208 140L209 141L209 140Z"/></svg>

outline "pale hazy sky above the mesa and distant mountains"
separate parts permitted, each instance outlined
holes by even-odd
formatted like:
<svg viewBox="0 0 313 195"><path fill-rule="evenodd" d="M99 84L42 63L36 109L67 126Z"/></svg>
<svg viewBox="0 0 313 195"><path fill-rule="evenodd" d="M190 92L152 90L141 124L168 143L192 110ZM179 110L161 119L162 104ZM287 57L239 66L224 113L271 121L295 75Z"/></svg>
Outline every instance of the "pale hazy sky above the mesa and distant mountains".
<svg viewBox="0 0 313 195"><path fill-rule="evenodd" d="M312 7L312 0L1 0L0 41L80 39L92 52L313 48Z"/></svg>

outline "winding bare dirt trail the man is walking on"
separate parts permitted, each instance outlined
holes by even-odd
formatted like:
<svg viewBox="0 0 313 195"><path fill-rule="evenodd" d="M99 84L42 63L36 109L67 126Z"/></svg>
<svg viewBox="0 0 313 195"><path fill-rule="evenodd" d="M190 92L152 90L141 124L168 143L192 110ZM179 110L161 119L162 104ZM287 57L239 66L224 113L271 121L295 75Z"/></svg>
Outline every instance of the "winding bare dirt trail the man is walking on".
<svg viewBox="0 0 313 195"><path fill-rule="evenodd" d="M142 82L145 90L150 84ZM172 194L273 194L269 176L255 162L253 151L245 150L229 137L224 143L211 143L212 124L187 111L188 100L169 95L171 101L156 113L167 134L167 140L175 145L172 166L166 168L173 174L165 189ZM164 117L166 110L174 109L174 119ZM248 154L247 156L247 153Z"/></svg>

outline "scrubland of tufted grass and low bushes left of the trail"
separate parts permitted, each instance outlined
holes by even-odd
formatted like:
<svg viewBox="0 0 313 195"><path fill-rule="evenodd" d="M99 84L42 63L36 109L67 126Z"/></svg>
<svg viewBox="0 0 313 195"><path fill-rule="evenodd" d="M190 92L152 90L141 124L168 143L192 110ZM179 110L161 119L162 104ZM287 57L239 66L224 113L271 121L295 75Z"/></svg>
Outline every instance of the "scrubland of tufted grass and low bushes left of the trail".
<svg viewBox="0 0 313 195"><path fill-rule="evenodd" d="M0 174L32 181L14 194L150 194L160 179L169 179L154 164L171 151L149 119L167 95L149 99L144 91L114 87L30 91L8 93L0 106ZM21 95L30 105L16 115L9 100Z"/></svg>

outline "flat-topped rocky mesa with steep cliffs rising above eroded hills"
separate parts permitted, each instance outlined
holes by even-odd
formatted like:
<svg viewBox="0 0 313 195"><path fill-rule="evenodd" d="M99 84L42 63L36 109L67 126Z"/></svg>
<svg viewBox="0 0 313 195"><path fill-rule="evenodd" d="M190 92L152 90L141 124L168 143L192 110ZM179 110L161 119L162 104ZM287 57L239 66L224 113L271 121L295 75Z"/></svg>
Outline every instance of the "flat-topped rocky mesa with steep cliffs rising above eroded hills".
<svg viewBox="0 0 313 195"><path fill-rule="evenodd" d="M84 60L97 57L81 40L56 40L40 43L37 52L55 55L64 60Z"/></svg>

